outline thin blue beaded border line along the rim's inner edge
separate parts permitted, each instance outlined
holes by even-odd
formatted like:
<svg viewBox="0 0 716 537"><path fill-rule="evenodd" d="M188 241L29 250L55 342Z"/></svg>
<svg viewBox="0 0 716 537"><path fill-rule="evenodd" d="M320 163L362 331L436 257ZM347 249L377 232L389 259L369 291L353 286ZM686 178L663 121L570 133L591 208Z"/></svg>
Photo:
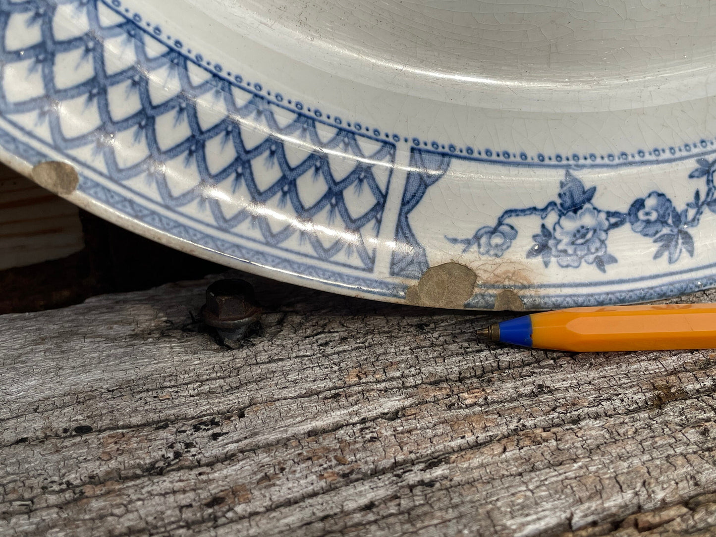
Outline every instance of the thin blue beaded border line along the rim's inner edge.
<svg viewBox="0 0 716 537"><path fill-rule="evenodd" d="M200 52L193 51L190 48L185 48L183 42L176 37L165 34L159 24L153 24L151 21L147 21L142 14L137 11L132 11L127 7L122 7L122 0L100 0L102 4L105 4L109 9L115 11L115 13L124 17L127 21L134 23L138 29L142 30L146 34L149 34L155 39L162 39L165 46L170 47L179 54L182 54L186 59L194 64L200 65L201 67L208 67L213 69L213 72L218 76L226 79L228 82L244 89L254 95L261 95L263 97L269 97L269 101L272 104L289 110L290 112L308 112L301 113L301 115L312 117L324 125L331 125L333 127L349 127L355 132L361 132L362 135L372 138L373 140L379 140L384 142L386 140L392 140L392 142L399 143L401 140L405 144L412 147L421 147L425 149L432 149L437 152L445 153L446 155L453 155L455 157L475 158L475 160L482 160L483 162L492 162L500 164L529 164L529 165L549 165L566 163L568 165L582 166L585 168L605 168L611 165L623 165L623 164L654 164L654 163L665 163L669 162L669 158L673 158L677 155L692 155L699 156L698 153L702 150L713 147L716 150L716 137L713 138L702 138L693 142L684 142L681 145L672 145L669 147L652 147L651 149L638 149L632 152L619 151L614 153L585 153L585 152L566 152L566 153L555 153L554 155L545 155L543 153L537 153L537 155L528 155L524 151L510 151L510 150L499 150L490 147L477 148L470 145L455 145L452 143L440 143L432 140L421 140L419 137L410 137L400 135L398 133L384 132L380 129L362 125L359 121L347 121L344 122L341 117L332 116L325 114L317 108L306 107L303 102L286 99L281 93L271 92L271 90L264 89L263 84L260 82L251 82L245 80L241 74L227 71L223 65L219 62L212 62L211 59L206 59ZM284 104L285 103L285 104ZM289 106L286 106L289 105ZM326 120L323 120L323 118ZM332 122L330 122L332 120ZM345 125L345 127L344 127ZM366 134L367 133L367 134Z"/></svg>

